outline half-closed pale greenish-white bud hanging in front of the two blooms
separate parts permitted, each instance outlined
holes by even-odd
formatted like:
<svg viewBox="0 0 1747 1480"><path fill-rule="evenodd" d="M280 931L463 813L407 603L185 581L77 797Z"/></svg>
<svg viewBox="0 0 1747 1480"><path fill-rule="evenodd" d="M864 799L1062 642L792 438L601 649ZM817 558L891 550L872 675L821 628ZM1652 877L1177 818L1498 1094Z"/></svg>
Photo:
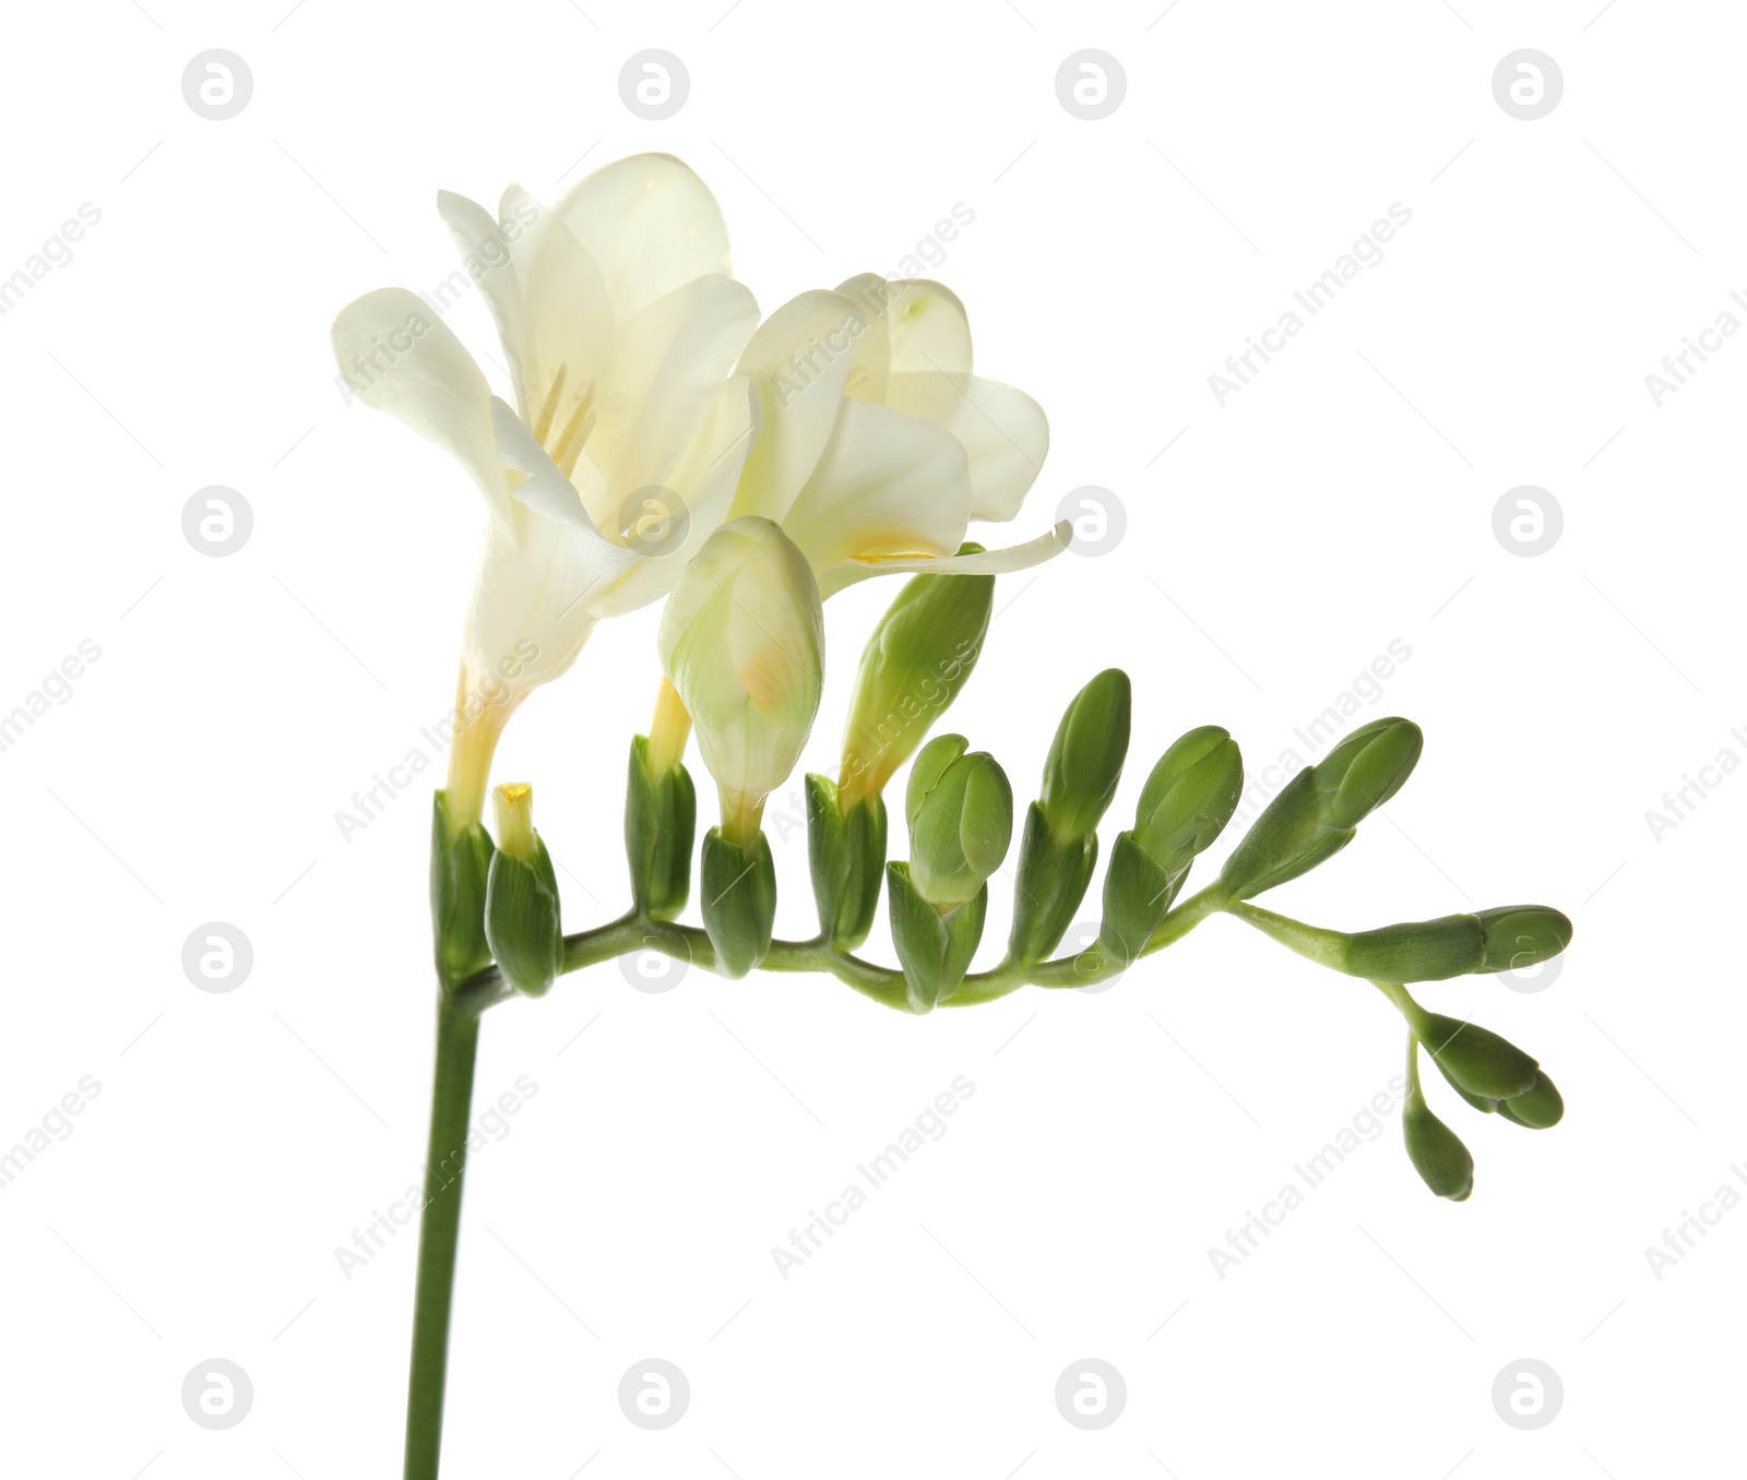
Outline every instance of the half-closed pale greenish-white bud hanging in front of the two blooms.
<svg viewBox="0 0 1747 1480"><path fill-rule="evenodd" d="M667 597L657 648L722 794L722 832L748 846L819 712L825 616L807 557L767 518L722 525Z"/></svg>

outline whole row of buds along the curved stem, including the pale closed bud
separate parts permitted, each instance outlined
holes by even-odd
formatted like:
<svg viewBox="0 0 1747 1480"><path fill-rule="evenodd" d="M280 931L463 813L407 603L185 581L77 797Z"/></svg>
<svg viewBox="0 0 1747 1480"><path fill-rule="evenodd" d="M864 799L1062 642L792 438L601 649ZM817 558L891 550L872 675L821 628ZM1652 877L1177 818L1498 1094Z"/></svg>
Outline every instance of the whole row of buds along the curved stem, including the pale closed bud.
<svg viewBox="0 0 1747 1480"><path fill-rule="evenodd" d="M728 977L762 963L828 970L875 1000L924 1014L991 1002L1025 984L1073 988L1108 979L1223 913L1319 965L1373 983L1401 1012L1408 1026L1403 1136L1412 1164L1438 1196L1466 1199L1474 1166L1427 1103L1422 1051L1474 1110L1529 1129L1558 1122L1558 1089L1532 1056L1487 1028L1427 1011L1408 991L1413 983L1551 960L1571 942L1571 922L1557 909L1508 906L1340 932L1254 902L1333 859L1406 784L1424 749L1419 726L1406 719L1363 724L1300 770L1214 880L1188 897L1197 859L1239 812L1244 761L1216 724L1181 735L1155 761L1132 826L1109 848L1095 942L1052 960L1090 890L1099 826L1129 752L1129 675L1097 674L1067 703L1038 796L1025 808L1010 871L1006 951L973 970L991 881L1015 841L1013 789L996 757L973 750L964 735L928 735L975 670L992 607L994 576L942 571L914 576L880 618L861 654L837 777L805 778L819 932L811 941L777 941L776 866L762 817L767 796L795 770L818 714L819 588L779 525L751 517L722 525L669 597L659 635L666 679L650 733L631 747L631 915L566 939L529 787L494 792L496 843L479 824L454 826L438 794L432 904L445 988L465 990L494 974L507 990L540 995L564 970L653 941ZM683 764L694 735L720 801L720 822L699 848L702 930L678 923L692 892L697 831L697 798ZM887 860L884 791L905 763L908 848L907 857ZM896 969L854 955L874 930L882 892Z"/></svg>

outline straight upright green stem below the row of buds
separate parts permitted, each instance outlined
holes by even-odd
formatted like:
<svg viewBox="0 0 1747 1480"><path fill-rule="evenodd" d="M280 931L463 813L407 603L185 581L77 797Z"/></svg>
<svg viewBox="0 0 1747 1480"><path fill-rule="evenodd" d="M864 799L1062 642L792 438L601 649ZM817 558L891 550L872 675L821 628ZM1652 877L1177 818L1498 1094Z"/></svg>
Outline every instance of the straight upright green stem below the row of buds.
<svg viewBox="0 0 1747 1480"><path fill-rule="evenodd" d="M445 995L437 1009L437 1073L432 1082L425 1209L419 1218L419 1274L412 1300L405 1480L437 1480L442 1450L454 1257L461 1236L461 1178L466 1171L466 1126L473 1103L477 1058L479 1014L465 1011L452 995Z"/></svg>

